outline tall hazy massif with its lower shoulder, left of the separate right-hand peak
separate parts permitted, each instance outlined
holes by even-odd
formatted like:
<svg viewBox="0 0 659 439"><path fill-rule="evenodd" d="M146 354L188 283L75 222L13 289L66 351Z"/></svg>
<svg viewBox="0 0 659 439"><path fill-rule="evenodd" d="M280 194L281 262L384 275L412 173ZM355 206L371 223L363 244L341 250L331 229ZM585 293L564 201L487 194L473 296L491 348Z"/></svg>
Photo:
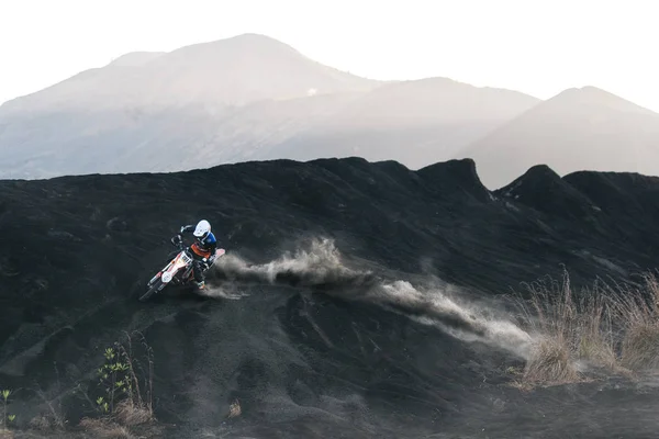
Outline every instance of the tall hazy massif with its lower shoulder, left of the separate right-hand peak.
<svg viewBox="0 0 659 439"><path fill-rule="evenodd" d="M3 104L0 177L354 155L422 167L537 102L445 78L369 80L245 34L126 54Z"/></svg>

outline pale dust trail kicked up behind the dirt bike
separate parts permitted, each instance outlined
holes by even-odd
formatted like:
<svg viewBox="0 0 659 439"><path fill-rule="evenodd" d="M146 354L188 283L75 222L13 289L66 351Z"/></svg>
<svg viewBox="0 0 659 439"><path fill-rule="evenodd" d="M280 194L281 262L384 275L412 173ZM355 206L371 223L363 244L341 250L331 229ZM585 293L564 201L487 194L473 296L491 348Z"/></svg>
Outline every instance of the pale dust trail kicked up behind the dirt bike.
<svg viewBox="0 0 659 439"><path fill-rule="evenodd" d="M348 301L377 304L414 320L433 325L465 341L482 341L527 358L532 338L505 319L484 314L473 303L449 293L447 286L422 289L407 281L387 281L371 271L346 267L334 243L328 239L311 243L309 249L286 254L264 264L248 263L227 254L215 264L214 274L224 285L284 284L313 288ZM228 282L227 282L228 281ZM235 282L235 283L234 283ZM238 299L238 290L213 289L209 295Z"/></svg>

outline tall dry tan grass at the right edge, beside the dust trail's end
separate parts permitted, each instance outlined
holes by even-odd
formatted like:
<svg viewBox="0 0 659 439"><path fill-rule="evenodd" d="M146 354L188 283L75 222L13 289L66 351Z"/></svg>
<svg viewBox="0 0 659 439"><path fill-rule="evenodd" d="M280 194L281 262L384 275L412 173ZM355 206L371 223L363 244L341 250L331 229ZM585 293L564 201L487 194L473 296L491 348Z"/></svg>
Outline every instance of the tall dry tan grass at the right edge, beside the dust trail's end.
<svg viewBox="0 0 659 439"><path fill-rule="evenodd" d="M522 323L536 344L522 373L526 384L562 384L583 379L581 364L613 372L659 368L659 282L610 288L601 281L573 291L569 275L527 285L518 300Z"/></svg>

